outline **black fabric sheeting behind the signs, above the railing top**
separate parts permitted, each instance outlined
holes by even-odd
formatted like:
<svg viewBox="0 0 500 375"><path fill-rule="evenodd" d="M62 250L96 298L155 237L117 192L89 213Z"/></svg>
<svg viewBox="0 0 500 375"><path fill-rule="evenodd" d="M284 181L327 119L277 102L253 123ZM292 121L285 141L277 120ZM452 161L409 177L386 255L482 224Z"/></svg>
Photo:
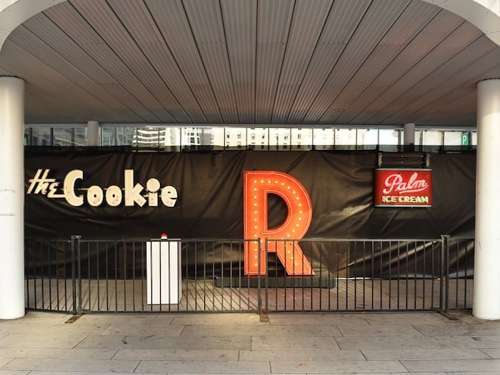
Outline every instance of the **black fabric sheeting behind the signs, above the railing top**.
<svg viewBox="0 0 500 375"><path fill-rule="evenodd" d="M31 151L25 156L26 191L41 169L64 180L74 169L89 186L124 186L124 170L134 170L134 184L150 178L171 185L179 194L174 207L145 204L71 206L64 198L26 194L25 236L87 239L171 238L241 239L243 237L243 171L281 171L298 179L313 206L306 238L455 238L474 237L476 156L432 154L433 206L374 207L376 153L328 151L220 151L193 153L78 153ZM62 182L61 182L62 186ZM281 199L270 199L269 226L286 216Z"/></svg>

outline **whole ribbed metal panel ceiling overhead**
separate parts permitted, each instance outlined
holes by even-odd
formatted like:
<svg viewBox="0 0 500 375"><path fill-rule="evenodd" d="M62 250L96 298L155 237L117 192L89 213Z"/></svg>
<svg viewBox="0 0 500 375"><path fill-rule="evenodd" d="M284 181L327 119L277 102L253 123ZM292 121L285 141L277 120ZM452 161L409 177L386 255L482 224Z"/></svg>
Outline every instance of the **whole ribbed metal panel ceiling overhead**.
<svg viewBox="0 0 500 375"><path fill-rule="evenodd" d="M36 123L470 126L499 51L420 0L71 0L11 33L0 74Z"/></svg>

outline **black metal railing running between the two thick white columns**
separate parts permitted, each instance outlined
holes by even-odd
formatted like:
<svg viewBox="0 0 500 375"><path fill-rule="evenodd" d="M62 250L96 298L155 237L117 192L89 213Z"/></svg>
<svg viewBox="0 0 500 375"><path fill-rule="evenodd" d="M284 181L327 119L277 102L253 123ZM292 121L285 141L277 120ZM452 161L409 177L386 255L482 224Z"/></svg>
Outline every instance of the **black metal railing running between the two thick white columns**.
<svg viewBox="0 0 500 375"><path fill-rule="evenodd" d="M257 274L244 272L245 244L259 249ZM471 309L472 303L474 240L449 236L300 241L72 236L26 239L25 249L27 309L448 312ZM309 262L312 271L287 274L287 261Z"/></svg>

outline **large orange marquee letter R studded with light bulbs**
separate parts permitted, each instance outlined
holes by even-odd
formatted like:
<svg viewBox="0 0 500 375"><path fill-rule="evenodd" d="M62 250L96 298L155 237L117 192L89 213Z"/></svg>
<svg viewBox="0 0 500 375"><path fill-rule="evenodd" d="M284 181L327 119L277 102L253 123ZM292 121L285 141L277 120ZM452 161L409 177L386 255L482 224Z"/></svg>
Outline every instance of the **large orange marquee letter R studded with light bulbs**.
<svg viewBox="0 0 500 375"><path fill-rule="evenodd" d="M283 224L272 229L268 227L267 217L269 194L280 196L288 208ZM314 274L298 241L292 241L303 238L311 224L311 199L304 186L289 174L276 171L246 171L244 172L243 200L244 238L261 239L261 246L258 241L245 242L245 274L265 274L265 239L271 240L267 242L267 249L276 252L287 274Z"/></svg>

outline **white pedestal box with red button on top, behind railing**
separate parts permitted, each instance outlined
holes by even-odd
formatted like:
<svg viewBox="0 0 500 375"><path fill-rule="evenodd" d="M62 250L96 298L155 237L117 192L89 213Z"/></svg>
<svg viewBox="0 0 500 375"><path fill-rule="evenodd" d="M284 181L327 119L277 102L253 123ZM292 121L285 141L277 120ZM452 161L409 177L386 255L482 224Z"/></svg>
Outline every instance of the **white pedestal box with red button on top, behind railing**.
<svg viewBox="0 0 500 375"><path fill-rule="evenodd" d="M181 241L152 239L146 242L148 304L179 304L181 285Z"/></svg>

